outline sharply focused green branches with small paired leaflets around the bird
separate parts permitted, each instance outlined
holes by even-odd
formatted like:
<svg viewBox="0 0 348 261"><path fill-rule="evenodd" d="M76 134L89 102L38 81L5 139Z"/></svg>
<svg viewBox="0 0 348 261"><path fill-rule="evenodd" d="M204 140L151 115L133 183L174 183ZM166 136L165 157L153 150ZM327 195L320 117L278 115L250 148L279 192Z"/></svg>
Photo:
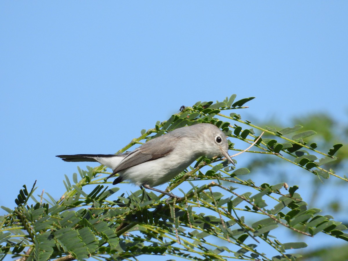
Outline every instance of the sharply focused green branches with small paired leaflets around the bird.
<svg viewBox="0 0 348 261"><path fill-rule="evenodd" d="M337 160L333 155L341 144L324 153L317 150L317 143L308 141L316 134L313 130L299 132L300 125L279 130L261 128L242 120L239 114L221 113L246 108L242 106L253 99L235 102L235 98L232 95L223 102L197 102L185 107L167 121L157 122L155 128L141 130L141 136L119 152L170 130L209 122L229 137L249 144L260 136L256 133L266 132L270 138L261 137L253 147L255 151L249 152L272 155L317 179L332 176L348 181L322 167ZM231 143L230 148L233 146ZM299 254L288 250L305 248L306 243L279 242L275 236L279 227L308 237L324 233L348 241L346 227L332 216L320 215L320 209L309 208L297 193L301 191L299 186L288 191L284 182L258 186L252 180L241 179L250 172L248 168L237 169L224 159L201 158L179 174L169 189L172 191L184 181L191 188L179 189L182 198L169 203L164 201L164 195L145 190L115 197L119 188L106 185L110 183L104 180L107 175L101 174L109 173L103 166L87 167L86 171L78 168L78 172L72 175L72 182L65 175L66 192L58 201L48 193L48 198L34 197L35 184L30 192L24 185L15 199L17 207L2 207L8 214L0 218L0 259L13 255L22 260L86 260L90 256L97 260L128 260L145 254L189 260L299 258ZM204 185L197 185L200 180ZM242 189L249 191L237 193ZM247 214L253 214L252 222L245 219ZM264 245L278 254L272 257L264 253Z"/></svg>

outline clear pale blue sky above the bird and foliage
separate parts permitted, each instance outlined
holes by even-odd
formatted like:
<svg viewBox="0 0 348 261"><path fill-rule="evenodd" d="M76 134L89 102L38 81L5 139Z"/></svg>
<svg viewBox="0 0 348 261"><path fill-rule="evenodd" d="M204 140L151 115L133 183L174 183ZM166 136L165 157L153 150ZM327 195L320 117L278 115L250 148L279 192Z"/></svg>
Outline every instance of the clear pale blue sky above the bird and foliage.
<svg viewBox="0 0 348 261"><path fill-rule="evenodd" d="M256 96L239 113L260 120L347 121L347 14L347 1L1 1L0 205L34 180L59 198L84 164L55 155L114 153L197 101L235 93Z"/></svg>

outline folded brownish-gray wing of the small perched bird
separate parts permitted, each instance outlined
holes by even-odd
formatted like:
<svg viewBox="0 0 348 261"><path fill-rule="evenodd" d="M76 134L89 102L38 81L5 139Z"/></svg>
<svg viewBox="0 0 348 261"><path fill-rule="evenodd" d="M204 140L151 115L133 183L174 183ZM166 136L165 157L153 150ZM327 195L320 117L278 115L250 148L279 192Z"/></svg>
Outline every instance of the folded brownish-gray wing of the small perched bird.
<svg viewBox="0 0 348 261"><path fill-rule="evenodd" d="M123 171L127 168L168 155L174 149L174 144L173 142L171 142L170 139L167 139L167 137L165 136L166 135L148 141L138 149L135 149L134 151L130 152L114 169L114 171L109 177L112 177L116 173Z"/></svg>

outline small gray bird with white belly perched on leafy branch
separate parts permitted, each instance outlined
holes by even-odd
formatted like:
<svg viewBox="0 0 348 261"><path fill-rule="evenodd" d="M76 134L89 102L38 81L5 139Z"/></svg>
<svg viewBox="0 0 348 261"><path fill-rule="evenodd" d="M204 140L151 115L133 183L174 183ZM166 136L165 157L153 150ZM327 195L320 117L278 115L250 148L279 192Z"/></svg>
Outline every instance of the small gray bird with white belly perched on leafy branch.
<svg viewBox="0 0 348 261"><path fill-rule="evenodd" d="M200 123L178 128L146 142L132 152L120 155L78 154L56 157L64 161L97 161L113 170L108 179L119 174L113 185L128 180L140 187L180 198L153 187L168 182L201 156L225 156L234 164L228 155L226 135L215 125Z"/></svg>

